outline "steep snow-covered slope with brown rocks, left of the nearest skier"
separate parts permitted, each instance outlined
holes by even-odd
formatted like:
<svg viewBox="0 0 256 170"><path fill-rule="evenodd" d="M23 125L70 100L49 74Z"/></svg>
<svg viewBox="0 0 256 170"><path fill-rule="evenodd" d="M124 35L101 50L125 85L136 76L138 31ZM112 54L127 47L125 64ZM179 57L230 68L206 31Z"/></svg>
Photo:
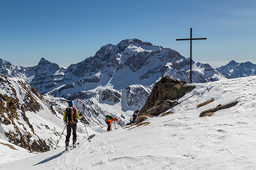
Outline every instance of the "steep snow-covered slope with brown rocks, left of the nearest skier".
<svg viewBox="0 0 256 170"><path fill-rule="evenodd" d="M0 74L1 138L30 151L48 151L59 137L59 109L24 80ZM48 126L54 122L56 127ZM43 133L51 133L45 137Z"/></svg>

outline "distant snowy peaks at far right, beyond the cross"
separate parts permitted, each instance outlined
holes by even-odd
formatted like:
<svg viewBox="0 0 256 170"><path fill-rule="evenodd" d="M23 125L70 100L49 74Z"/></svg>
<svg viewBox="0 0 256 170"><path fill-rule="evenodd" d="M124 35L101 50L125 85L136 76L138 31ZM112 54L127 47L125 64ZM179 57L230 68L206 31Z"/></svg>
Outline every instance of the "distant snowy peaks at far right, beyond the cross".
<svg viewBox="0 0 256 170"><path fill-rule="evenodd" d="M232 60L227 65L218 67L216 70L229 79L256 75L256 65L249 61L238 63Z"/></svg>

